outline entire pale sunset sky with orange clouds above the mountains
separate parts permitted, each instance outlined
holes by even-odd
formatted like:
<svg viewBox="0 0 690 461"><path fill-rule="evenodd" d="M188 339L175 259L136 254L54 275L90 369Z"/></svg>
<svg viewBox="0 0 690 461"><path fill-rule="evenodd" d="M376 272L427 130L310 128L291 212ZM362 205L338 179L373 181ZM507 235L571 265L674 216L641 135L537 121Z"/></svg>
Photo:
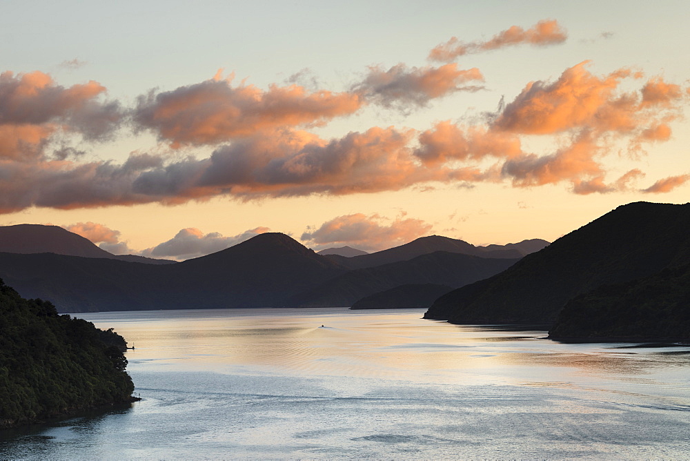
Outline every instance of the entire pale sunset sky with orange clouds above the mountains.
<svg viewBox="0 0 690 461"><path fill-rule="evenodd" d="M187 259L689 202L687 1L0 5L0 225Z"/></svg>

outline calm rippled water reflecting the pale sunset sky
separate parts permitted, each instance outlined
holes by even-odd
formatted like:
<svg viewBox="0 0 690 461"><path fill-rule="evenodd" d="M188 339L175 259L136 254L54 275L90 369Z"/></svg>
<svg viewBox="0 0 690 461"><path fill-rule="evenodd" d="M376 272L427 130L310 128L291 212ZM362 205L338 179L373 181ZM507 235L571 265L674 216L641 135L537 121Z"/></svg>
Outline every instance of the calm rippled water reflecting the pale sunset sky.
<svg viewBox="0 0 690 461"><path fill-rule="evenodd" d="M690 457L690 348L422 313L84 314L135 345L143 400L0 432L0 458Z"/></svg>

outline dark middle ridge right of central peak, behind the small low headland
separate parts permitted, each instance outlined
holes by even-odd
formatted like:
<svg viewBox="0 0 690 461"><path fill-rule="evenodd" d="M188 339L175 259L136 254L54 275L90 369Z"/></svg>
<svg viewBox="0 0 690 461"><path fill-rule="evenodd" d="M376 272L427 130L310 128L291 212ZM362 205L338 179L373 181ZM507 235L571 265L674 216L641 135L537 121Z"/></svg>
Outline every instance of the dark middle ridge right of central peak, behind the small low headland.
<svg viewBox="0 0 690 461"><path fill-rule="evenodd" d="M284 304L295 307L346 307L352 306L362 297L406 284L463 286L491 277L515 262L517 259L484 258L436 251L409 261L349 271L288 298Z"/></svg>

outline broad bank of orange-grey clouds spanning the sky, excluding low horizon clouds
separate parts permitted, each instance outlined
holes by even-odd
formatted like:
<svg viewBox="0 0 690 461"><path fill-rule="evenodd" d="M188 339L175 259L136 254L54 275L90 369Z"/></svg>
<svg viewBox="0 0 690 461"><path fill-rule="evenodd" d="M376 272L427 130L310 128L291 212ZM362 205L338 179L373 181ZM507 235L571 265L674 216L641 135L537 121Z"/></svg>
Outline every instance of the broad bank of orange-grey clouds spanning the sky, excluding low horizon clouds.
<svg viewBox="0 0 690 461"><path fill-rule="evenodd" d="M560 24L549 20L464 43L462 50L565 39ZM458 46L446 48L457 57ZM234 84L232 76L219 72L174 90L150 90L126 108L106 99L106 88L95 81L65 87L39 71L3 72L0 213L32 206L175 205L219 196L253 200L484 182L516 188L564 184L582 195L665 193L687 184L681 174L651 179L656 182L644 188L637 186L642 170L610 171L608 164L621 153L640 158L650 146L672 139L689 88L627 68L605 75L590 68L583 61L557 79L528 82L480 121L373 126L330 138L311 129L368 106L424 108L456 92L480 90L485 77L456 63L401 63L387 70L372 66L355 84L332 91L295 83L262 89ZM125 129L153 133L166 152L137 150L119 164L86 154L89 146ZM525 148L534 138L550 147ZM210 155L186 156L201 147Z"/></svg>

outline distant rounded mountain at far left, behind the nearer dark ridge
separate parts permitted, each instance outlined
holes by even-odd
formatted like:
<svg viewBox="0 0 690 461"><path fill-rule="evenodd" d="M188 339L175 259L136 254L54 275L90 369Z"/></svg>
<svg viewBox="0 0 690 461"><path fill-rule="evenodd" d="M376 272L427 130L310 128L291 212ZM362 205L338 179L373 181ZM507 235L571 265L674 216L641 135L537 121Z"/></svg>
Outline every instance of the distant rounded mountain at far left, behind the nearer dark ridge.
<svg viewBox="0 0 690 461"><path fill-rule="evenodd" d="M55 253L57 255L102 257L121 261L147 264L174 264L169 259L152 259L136 255L113 255L89 239L59 226L42 224L17 224L0 226L0 252L5 253Z"/></svg>

